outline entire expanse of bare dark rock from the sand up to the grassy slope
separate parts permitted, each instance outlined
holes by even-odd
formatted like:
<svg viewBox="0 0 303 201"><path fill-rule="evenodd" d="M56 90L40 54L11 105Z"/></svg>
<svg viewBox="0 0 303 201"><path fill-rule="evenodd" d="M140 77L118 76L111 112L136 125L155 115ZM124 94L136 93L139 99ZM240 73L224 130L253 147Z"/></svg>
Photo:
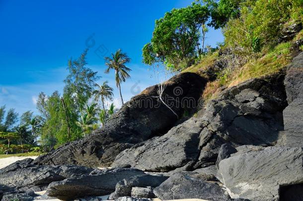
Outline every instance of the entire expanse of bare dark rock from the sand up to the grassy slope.
<svg viewBox="0 0 303 201"><path fill-rule="evenodd" d="M144 192L162 200L301 201L303 53L284 70L227 88L197 107L206 81L176 75L165 82L162 100L161 86L152 86L101 130L0 170L5 199L47 189L64 200L115 191L111 198ZM180 121L194 109L196 115Z"/></svg>

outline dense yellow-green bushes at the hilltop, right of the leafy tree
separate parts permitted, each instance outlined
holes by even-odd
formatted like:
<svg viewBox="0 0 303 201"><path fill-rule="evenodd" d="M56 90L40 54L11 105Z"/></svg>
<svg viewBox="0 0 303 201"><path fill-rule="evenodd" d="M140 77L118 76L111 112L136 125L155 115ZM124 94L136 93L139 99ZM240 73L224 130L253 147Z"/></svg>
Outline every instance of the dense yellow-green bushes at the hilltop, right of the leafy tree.
<svg viewBox="0 0 303 201"><path fill-rule="evenodd" d="M242 47L245 50L243 54L249 55L260 52L265 46L275 45L283 24L291 20L298 3L298 0L255 0L241 3L239 16L231 18L224 27L226 46Z"/></svg>

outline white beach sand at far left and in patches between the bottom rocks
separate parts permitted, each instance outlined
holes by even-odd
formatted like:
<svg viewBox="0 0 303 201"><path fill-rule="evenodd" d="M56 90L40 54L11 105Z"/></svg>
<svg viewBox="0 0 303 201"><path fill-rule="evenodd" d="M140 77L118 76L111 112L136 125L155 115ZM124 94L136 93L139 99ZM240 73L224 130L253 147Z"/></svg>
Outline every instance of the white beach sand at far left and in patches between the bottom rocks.
<svg viewBox="0 0 303 201"><path fill-rule="evenodd" d="M35 159L38 156L12 156L12 157L7 157L7 158L0 158L0 169L10 165L18 160L23 160L25 158L32 158ZM99 169L106 169L106 168L99 168ZM36 194L43 196L45 194L46 191L40 191L40 192L35 192ZM105 201L108 198L109 195L107 196L100 196L98 198L101 198L103 201ZM39 198L39 197L37 197ZM53 200L35 200L35 201L61 201L59 199L53 199ZM152 201L161 201L160 199L156 198L156 199L152 199ZM206 200L200 200L200 199L184 199L184 200L174 200L174 201L206 201Z"/></svg>

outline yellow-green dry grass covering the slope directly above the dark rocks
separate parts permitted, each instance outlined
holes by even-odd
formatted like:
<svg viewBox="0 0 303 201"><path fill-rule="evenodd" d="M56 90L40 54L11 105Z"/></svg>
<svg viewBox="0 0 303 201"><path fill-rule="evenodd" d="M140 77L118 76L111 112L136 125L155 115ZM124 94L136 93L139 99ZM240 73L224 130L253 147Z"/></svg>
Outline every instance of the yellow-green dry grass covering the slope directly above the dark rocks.
<svg viewBox="0 0 303 201"><path fill-rule="evenodd" d="M291 43L281 43L276 47L267 50L264 53L264 56L259 59L251 59L251 61L237 69L226 70L227 73L222 73L216 80L207 83L207 86L203 91L203 99L205 102L208 102L209 100L216 98L220 92L218 89L222 86L231 87L247 79L262 77L278 72L291 63L292 58L290 53ZM201 71L214 64L217 58L218 52L215 52L213 55L203 58L198 65L188 67L183 72L196 72L201 74Z"/></svg>

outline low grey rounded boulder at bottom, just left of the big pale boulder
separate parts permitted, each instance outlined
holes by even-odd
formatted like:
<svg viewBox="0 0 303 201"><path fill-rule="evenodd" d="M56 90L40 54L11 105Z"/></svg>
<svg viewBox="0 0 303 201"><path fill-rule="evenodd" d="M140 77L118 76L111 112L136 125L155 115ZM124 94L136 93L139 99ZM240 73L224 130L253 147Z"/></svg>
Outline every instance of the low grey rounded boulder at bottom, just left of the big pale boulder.
<svg viewBox="0 0 303 201"><path fill-rule="evenodd" d="M169 177L153 190L161 200L204 199L210 201L226 201L229 196L218 184L194 179L183 174Z"/></svg>

